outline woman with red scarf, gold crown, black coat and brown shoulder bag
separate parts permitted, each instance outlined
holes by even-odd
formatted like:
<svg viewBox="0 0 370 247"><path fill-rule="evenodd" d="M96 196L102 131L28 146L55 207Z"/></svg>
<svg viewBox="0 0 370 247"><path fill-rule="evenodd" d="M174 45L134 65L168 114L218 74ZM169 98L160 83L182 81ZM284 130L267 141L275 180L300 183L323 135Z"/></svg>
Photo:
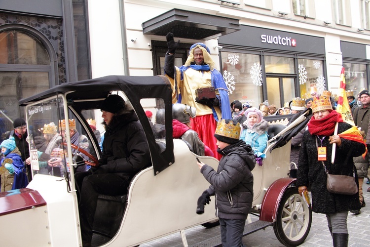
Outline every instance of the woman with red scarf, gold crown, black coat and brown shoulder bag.
<svg viewBox="0 0 370 247"><path fill-rule="evenodd" d="M348 211L361 208L359 194L347 196L330 193L326 188L327 174L323 164L330 174L351 176L355 172L357 182L353 157L365 153L366 146L334 135L336 123L338 123L338 133L352 126L343 122L341 115L333 110L329 97L314 97L312 112L313 116L307 124L308 130L303 134L296 185L299 194L310 186L312 210L326 214L329 231L333 237L333 246L346 247L348 246ZM333 143L336 144L336 150L332 164Z"/></svg>

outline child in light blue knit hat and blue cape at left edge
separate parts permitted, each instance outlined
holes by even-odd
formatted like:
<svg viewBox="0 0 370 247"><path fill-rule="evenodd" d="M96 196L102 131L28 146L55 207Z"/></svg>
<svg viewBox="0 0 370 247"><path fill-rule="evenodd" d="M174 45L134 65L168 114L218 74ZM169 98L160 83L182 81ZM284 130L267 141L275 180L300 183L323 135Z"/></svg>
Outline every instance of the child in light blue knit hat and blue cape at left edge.
<svg viewBox="0 0 370 247"><path fill-rule="evenodd" d="M1 192L25 188L28 180L22 171L24 165L14 137L2 141L0 148L4 155L0 161Z"/></svg>

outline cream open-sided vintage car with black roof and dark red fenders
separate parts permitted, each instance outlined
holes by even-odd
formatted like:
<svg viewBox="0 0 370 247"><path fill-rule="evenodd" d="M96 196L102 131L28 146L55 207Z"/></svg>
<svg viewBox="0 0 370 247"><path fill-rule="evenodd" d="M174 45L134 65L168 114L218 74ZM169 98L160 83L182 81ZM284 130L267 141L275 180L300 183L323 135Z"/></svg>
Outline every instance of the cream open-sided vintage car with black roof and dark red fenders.
<svg viewBox="0 0 370 247"><path fill-rule="evenodd" d="M27 188L0 194L1 243L4 246L82 246L78 214L78 193L74 173L79 165L95 165L102 152L99 140L87 122L96 120L104 129L100 105L111 93L118 93L133 106L148 140L151 163L132 179L127 195L101 195L94 220L93 246L138 246L180 232L187 246L185 229L218 222L213 202L205 213L196 214L197 199L209 187L196 158L215 169L218 160L194 154L182 139L172 138L172 89L162 76L107 76L68 82L22 99L27 119L33 180ZM155 139L145 110L164 109L165 136ZM311 208L304 203L290 177L290 140L308 122L311 111L298 115L267 117L271 124L263 165L254 174L253 213L259 221L246 225L245 234L273 226L279 241L297 246L307 237ZM51 131L40 152L38 140L45 124L75 120L79 143L71 143L69 124L66 136ZM62 121L62 122L60 122ZM91 124L91 123L90 123ZM59 136L59 138L58 138ZM59 141L56 141L59 140ZM49 147L49 146L48 146ZM55 167L48 161L59 158ZM14 236L14 229L22 233Z"/></svg>

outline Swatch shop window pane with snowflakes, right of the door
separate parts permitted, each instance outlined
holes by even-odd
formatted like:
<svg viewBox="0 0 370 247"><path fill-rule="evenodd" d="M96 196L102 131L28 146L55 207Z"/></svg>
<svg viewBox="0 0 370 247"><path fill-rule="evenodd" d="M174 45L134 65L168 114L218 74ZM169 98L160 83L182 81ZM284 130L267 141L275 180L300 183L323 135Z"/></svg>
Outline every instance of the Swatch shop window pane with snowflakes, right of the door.
<svg viewBox="0 0 370 247"><path fill-rule="evenodd" d="M311 91L321 94L327 88L321 60L298 59L298 77L303 99L311 98Z"/></svg>

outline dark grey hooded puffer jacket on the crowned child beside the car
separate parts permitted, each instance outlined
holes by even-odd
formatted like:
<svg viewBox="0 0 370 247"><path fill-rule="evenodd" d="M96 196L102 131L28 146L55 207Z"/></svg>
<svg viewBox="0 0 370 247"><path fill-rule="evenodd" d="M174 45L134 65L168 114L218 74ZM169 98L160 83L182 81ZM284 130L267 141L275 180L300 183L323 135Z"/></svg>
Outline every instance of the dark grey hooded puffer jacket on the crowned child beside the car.
<svg viewBox="0 0 370 247"><path fill-rule="evenodd" d="M208 193L215 195L216 216L246 219L253 202L254 152L242 140L218 152L223 156L217 172L209 165L203 165L200 170L211 184Z"/></svg>

